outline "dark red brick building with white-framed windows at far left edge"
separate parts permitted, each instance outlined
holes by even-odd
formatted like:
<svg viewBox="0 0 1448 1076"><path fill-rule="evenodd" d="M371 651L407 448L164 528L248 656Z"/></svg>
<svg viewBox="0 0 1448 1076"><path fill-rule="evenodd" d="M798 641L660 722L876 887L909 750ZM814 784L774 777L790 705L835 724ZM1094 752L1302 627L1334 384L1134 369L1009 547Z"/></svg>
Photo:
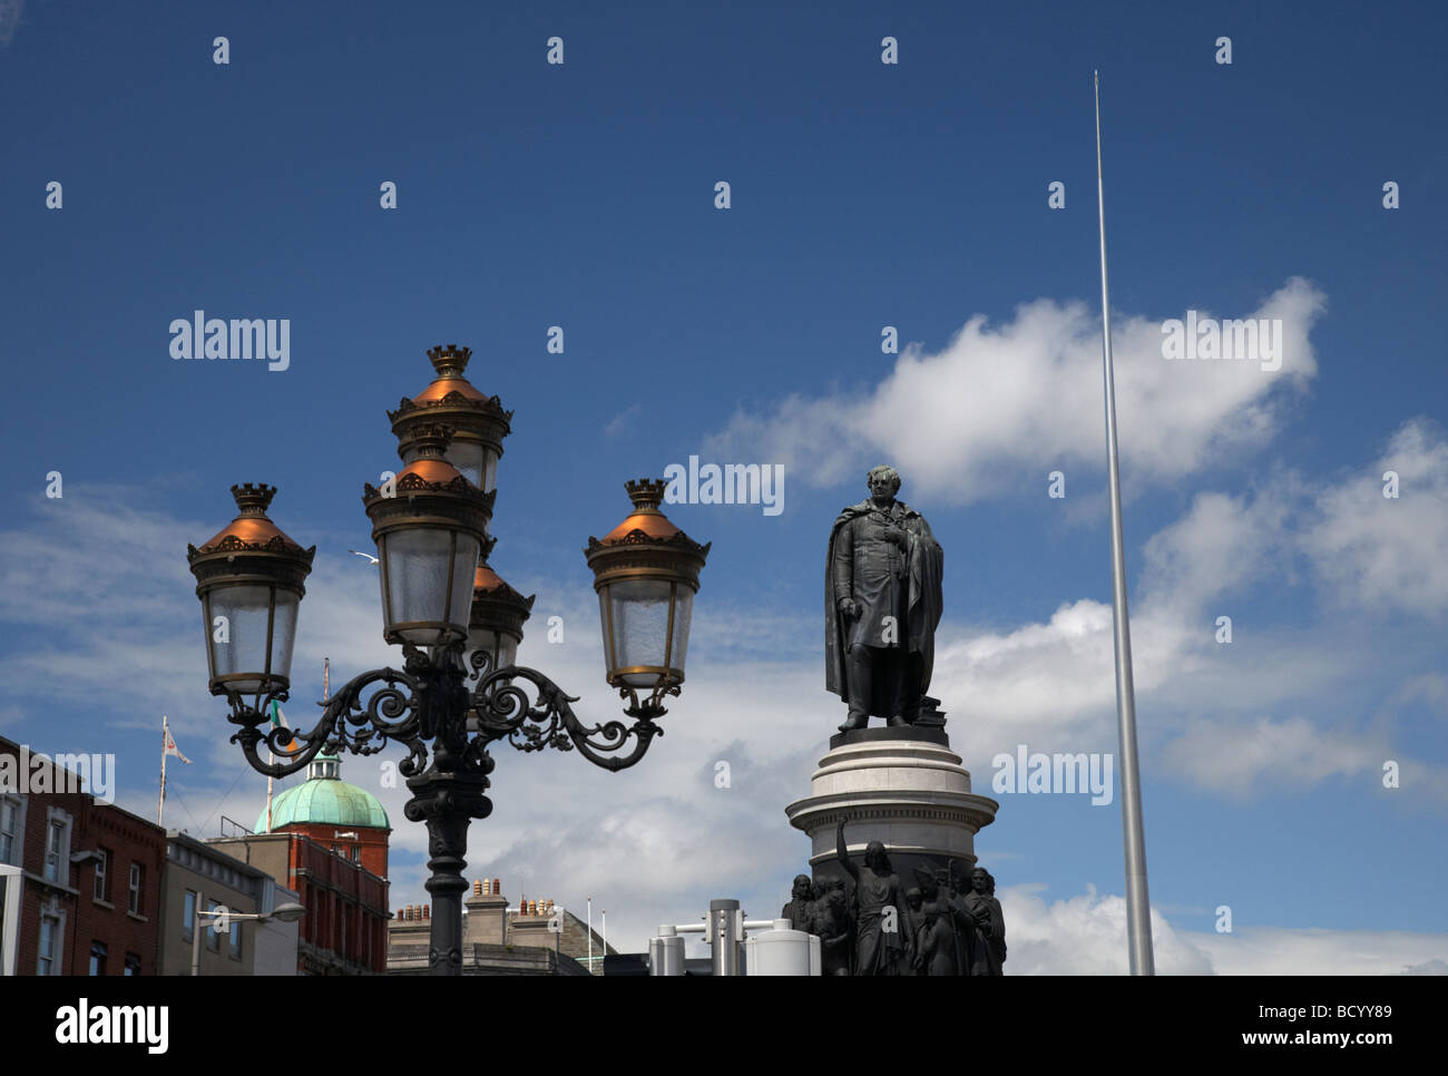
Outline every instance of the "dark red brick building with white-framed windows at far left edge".
<svg viewBox="0 0 1448 1076"><path fill-rule="evenodd" d="M81 765L101 756L58 762L0 737L3 960L16 975L155 975L165 831L83 791Z"/></svg>

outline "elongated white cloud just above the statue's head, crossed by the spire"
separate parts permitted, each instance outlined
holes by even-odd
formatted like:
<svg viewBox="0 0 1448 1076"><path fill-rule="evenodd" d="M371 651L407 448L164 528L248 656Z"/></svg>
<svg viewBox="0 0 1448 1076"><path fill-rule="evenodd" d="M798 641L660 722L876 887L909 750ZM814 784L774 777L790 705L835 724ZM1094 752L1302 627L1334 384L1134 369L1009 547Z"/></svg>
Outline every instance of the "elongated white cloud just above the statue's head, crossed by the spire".
<svg viewBox="0 0 1448 1076"><path fill-rule="evenodd" d="M1316 374L1308 336L1325 301L1293 277L1248 314L1281 319L1276 372L1260 362L1166 361L1160 319L1118 317L1116 405L1131 481L1171 482L1270 440L1284 403ZM938 353L908 346L872 388L792 395L765 416L740 411L704 450L747 447L752 459L783 463L814 485L889 459L909 489L960 503L1024 476L1044 481L1058 466L1098 472L1105 434L1096 319L1083 303L1048 298L1022 304L999 327L977 314Z"/></svg>

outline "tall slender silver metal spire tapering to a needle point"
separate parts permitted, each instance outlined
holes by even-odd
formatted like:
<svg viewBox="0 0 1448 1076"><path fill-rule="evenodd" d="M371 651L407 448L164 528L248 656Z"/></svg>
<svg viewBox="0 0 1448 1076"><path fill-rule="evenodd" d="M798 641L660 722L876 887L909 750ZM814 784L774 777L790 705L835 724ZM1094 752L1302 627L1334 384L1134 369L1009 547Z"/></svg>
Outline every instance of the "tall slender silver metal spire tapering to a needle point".
<svg viewBox="0 0 1448 1076"><path fill-rule="evenodd" d="M1100 171L1100 72L1096 87L1096 213L1100 226L1102 377L1106 388L1106 469L1111 485L1111 618L1116 649L1116 730L1121 746L1121 820L1127 859L1127 944L1132 975L1156 975L1151 953L1151 898L1147 895L1147 838L1141 824L1141 772L1137 765L1137 691L1131 676L1131 621L1127 615L1127 552L1121 529L1121 465L1116 455L1116 378L1111 361L1111 300L1106 294L1106 194Z"/></svg>

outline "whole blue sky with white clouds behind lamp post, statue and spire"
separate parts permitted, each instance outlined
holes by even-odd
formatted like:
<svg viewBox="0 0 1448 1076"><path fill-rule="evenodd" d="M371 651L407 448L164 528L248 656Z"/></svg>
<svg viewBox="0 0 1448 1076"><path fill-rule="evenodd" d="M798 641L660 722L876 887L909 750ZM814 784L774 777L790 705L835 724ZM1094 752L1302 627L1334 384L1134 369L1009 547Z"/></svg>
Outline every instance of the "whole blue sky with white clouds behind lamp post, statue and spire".
<svg viewBox="0 0 1448 1076"><path fill-rule="evenodd" d="M368 547L362 482L395 465L385 408L458 342L517 411L492 531L539 594L521 659L589 717L614 701L581 549L623 481L689 455L785 466L779 516L668 508L714 549L643 765L494 752L469 859L510 896L592 894L634 947L711 896L785 899L807 843L783 807L843 717L825 539L882 461L946 550L933 694L976 789L1019 743L1115 750L1100 68L1158 967L1445 962L1444 29L1431 4L28 0L0 22L0 734L114 752L117 799L153 814L164 711L195 760L168 823L255 818L185 543L232 517L230 484L278 485L272 518L319 546L294 682L317 669L320 697L321 656L334 678L390 660L346 550ZM197 308L290 319L290 368L172 361ZM1166 362L1161 321L1189 308L1280 319L1281 369ZM345 775L398 827L394 907L420 902L401 797L372 762ZM1008 970L1124 969L1119 805L998 798L977 852L1008 891Z"/></svg>

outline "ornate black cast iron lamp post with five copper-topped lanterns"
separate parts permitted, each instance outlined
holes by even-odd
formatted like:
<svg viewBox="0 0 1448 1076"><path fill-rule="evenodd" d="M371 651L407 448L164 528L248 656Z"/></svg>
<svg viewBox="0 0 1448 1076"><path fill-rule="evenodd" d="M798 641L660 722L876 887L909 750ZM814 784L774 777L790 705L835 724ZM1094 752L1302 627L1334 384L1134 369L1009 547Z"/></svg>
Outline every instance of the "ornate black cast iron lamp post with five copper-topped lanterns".
<svg viewBox="0 0 1448 1076"><path fill-rule="evenodd" d="M466 349L437 348L429 358L439 378L417 400L404 400L391 414L407 466L382 489L365 485L362 495L379 558L382 634L401 644L401 671L353 678L319 704L321 717L308 731L269 727L272 701L288 698L297 611L316 546L303 549L266 517L274 487L246 484L232 487L237 517L200 547L188 546L187 559L206 618L210 689L230 704L227 720L237 726L232 741L252 769L281 778L323 749L375 755L392 740L407 747L398 770L413 798L404 811L426 823L429 834L429 970L460 975L462 869L468 824L492 811L485 795L489 744L576 747L610 770L639 762L663 733L663 699L683 684L694 594L710 546L659 511L662 481L627 484L634 511L602 539L591 537L585 555L599 595L607 679L627 701L631 724L581 721L571 707L575 695L513 663L533 600L501 579L494 587L497 575L487 569L497 497L491 484L511 411L462 381ZM458 427L433 419L462 419L476 429L459 442ZM479 594L487 600L478 602ZM264 746L281 752L294 741L295 753L282 762L262 759Z"/></svg>

